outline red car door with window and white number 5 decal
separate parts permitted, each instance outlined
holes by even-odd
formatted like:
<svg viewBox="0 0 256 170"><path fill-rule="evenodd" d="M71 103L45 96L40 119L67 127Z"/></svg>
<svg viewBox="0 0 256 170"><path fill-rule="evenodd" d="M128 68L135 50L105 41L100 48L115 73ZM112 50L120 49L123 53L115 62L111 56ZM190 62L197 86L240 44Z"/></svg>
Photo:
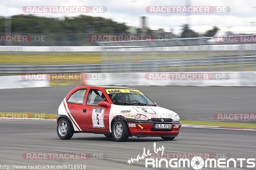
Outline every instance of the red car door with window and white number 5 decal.
<svg viewBox="0 0 256 170"><path fill-rule="evenodd" d="M109 132L109 110L110 108L99 106L100 101L107 101L103 91L100 89L90 89L85 101L86 112L81 115L83 128L86 131Z"/></svg>

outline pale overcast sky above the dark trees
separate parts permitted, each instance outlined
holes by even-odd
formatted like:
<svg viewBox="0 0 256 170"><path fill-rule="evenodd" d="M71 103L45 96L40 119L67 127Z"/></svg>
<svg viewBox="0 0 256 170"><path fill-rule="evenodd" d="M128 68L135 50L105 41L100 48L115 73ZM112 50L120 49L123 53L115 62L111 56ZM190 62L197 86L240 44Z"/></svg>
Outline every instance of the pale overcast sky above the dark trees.
<svg viewBox="0 0 256 170"><path fill-rule="evenodd" d="M190 6L229 6L229 13L148 13L147 6L186 6L186 0L1 0L0 16L25 14L24 6L106 6L106 13L84 13L85 15L111 18L126 25L141 27L140 16L147 17L151 29L164 28L165 31L181 32L181 25L189 22L196 32L205 32L212 26L221 31L256 31L255 0L187 0ZM76 16L79 13L39 13L45 17Z"/></svg>

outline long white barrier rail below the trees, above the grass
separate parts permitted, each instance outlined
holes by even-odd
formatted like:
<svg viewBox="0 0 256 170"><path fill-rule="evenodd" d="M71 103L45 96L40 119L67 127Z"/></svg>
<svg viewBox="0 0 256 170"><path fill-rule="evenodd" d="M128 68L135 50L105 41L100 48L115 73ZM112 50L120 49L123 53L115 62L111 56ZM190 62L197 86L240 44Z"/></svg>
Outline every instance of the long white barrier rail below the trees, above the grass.
<svg viewBox="0 0 256 170"><path fill-rule="evenodd" d="M255 50L254 44L218 44L198 46L0 46L1 53L83 53L83 52L150 52L150 51L238 51Z"/></svg>

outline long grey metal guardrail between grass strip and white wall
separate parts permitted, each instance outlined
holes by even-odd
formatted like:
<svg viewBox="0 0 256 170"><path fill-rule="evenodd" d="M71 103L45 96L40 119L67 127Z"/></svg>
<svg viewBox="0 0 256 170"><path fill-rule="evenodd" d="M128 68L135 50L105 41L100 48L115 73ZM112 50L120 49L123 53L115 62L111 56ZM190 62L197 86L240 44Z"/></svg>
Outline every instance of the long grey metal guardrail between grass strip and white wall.
<svg viewBox="0 0 256 170"><path fill-rule="evenodd" d="M104 64L79 64L79 65L0 65L0 74L25 74L25 73L79 73L79 72L141 72L173 70L168 67L184 66L213 66L228 64L256 64L256 55L227 56L197 59L162 59L140 60L129 63L104 63ZM177 70L176 70L177 71ZM205 71L205 69L204 69ZM212 70L208 70L212 71Z"/></svg>

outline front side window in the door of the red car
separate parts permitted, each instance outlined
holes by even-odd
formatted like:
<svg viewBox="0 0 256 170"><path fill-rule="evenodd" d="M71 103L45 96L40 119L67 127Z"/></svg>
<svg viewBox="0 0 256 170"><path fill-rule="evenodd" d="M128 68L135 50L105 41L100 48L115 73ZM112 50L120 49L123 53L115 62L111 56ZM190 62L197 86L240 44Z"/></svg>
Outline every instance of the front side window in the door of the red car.
<svg viewBox="0 0 256 170"><path fill-rule="evenodd" d="M107 101L102 91L97 89L91 89L89 91L86 104L97 106L100 101Z"/></svg>

